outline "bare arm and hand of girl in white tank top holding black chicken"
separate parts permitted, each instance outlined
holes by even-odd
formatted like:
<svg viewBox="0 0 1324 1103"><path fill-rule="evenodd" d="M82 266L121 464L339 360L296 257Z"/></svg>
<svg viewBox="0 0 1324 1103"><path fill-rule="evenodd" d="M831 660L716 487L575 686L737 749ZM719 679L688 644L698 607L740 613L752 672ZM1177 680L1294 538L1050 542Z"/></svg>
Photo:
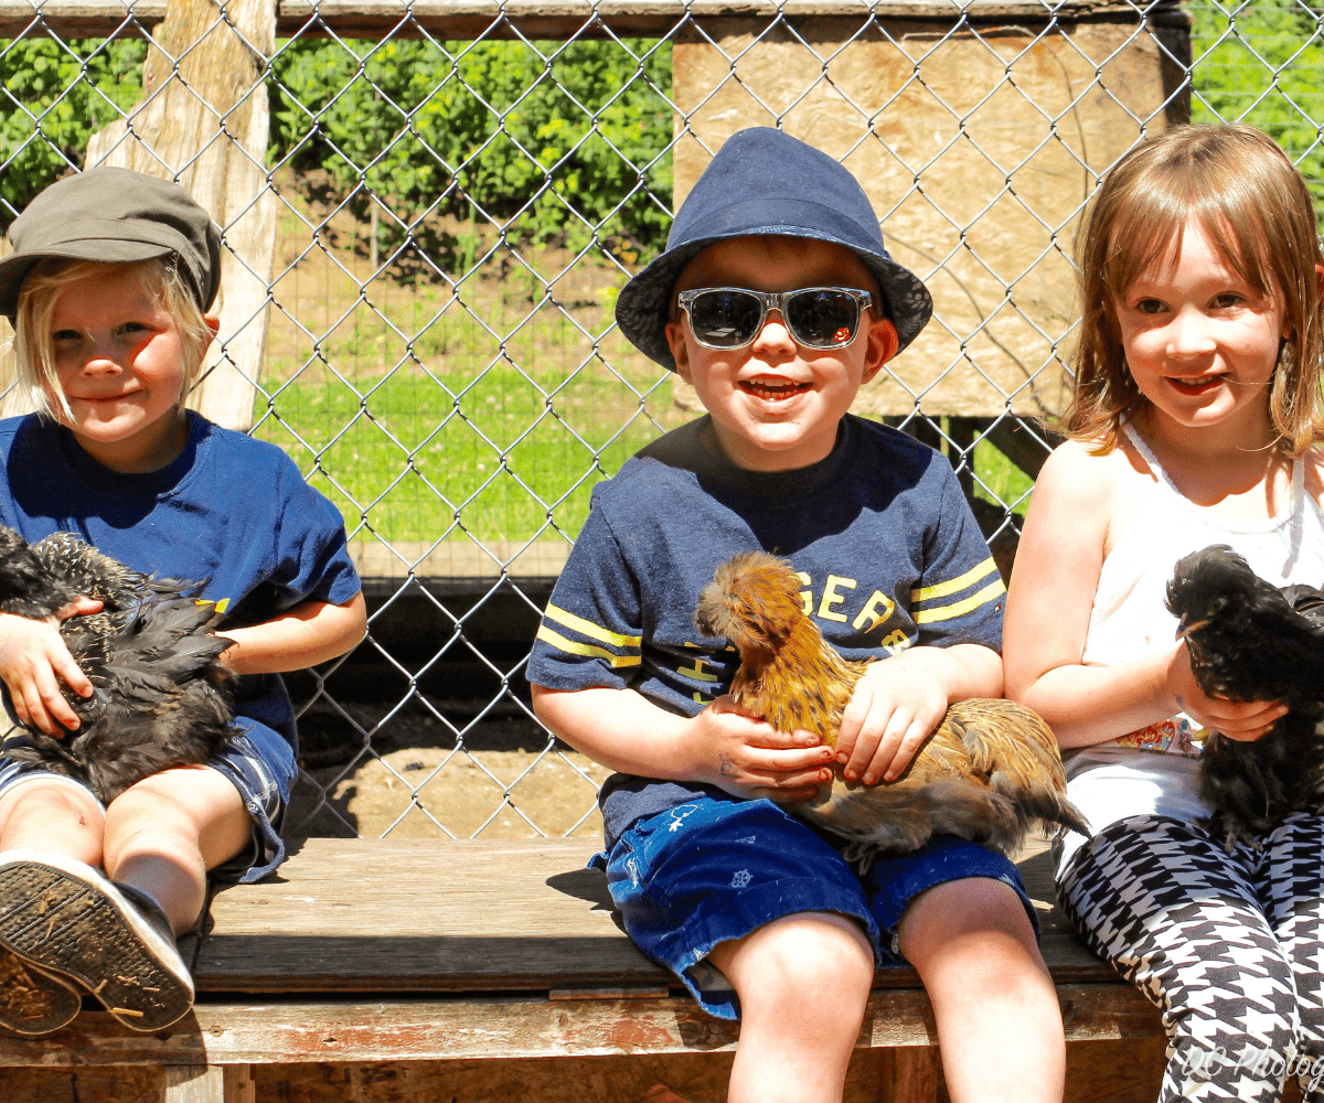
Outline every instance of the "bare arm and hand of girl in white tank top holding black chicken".
<svg viewBox="0 0 1324 1103"><path fill-rule="evenodd" d="M1128 474L1121 449L1091 456L1075 441L1043 465L1008 593L1006 695L1043 716L1063 747L1116 739L1178 711L1235 739L1259 738L1279 706L1205 696L1176 640L1117 666L1082 662L1110 526L1139 485Z"/></svg>

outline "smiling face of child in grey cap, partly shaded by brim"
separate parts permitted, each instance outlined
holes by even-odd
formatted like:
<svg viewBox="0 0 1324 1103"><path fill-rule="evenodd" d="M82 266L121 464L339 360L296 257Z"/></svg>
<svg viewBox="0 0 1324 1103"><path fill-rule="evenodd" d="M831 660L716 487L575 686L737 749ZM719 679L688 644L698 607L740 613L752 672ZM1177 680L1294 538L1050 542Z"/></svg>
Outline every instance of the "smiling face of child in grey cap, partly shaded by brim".
<svg viewBox="0 0 1324 1103"><path fill-rule="evenodd" d="M107 266L65 287L50 338L73 413L60 420L94 459L117 471L152 471L180 454L184 339L131 267Z"/></svg>

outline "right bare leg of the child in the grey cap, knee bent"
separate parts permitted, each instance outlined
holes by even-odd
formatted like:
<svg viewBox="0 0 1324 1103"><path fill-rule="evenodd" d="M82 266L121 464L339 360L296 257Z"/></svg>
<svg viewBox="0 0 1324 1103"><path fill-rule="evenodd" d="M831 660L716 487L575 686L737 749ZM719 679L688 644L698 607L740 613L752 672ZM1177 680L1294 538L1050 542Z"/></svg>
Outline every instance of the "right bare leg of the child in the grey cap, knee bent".
<svg viewBox="0 0 1324 1103"><path fill-rule="evenodd" d="M176 935L192 928L207 871L253 838L238 789L209 767L154 773L106 809L106 874L162 906Z"/></svg>

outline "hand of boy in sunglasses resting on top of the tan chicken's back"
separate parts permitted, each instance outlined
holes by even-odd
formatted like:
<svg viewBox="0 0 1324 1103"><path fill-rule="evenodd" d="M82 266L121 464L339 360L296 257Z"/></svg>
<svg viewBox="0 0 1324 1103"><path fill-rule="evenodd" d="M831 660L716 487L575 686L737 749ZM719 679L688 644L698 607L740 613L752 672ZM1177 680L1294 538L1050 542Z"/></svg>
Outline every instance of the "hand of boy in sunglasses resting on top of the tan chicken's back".
<svg viewBox="0 0 1324 1103"><path fill-rule="evenodd" d="M841 718L847 781L895 781L947 715L947 687L912 653L871 663Z"/></svg>

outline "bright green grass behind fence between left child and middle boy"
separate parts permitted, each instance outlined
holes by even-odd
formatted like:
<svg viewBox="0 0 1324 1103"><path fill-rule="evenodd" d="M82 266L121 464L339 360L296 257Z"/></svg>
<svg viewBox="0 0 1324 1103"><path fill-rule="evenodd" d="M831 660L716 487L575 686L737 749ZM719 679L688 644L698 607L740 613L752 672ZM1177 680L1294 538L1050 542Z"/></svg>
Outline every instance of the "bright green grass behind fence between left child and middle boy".
<svg viewBox="0 0 1324 1103"><path fill-rule="evenodd" d="M573 538L592 485L659 433L639 408L605 428L580 418L604 392L618 397L596 375L539 384L495 367L477 380L293 384L256 436L314 471L351 534L367 524L388 540L524 540L551 538L552 524Z"/></svg>

